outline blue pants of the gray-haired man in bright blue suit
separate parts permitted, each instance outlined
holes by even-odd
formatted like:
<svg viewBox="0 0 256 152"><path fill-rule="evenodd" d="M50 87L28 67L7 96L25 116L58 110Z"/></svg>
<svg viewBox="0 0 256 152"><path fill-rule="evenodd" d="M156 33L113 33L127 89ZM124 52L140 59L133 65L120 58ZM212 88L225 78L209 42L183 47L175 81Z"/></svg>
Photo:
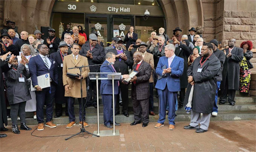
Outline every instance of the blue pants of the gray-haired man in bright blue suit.
<svg viewBox="0 0 256 152"><path fill-rule="evenodd" d="M166 106L168 103L169 112L168 112L168 120L169 125L175 125L175 103L177 100L177 92L170 92L168 91L168 87L165 86L164 90L157 89L159 100L160 100L160 107L159 107L159 119L158 123L163 124L165 121L165 111Z"/></svg>

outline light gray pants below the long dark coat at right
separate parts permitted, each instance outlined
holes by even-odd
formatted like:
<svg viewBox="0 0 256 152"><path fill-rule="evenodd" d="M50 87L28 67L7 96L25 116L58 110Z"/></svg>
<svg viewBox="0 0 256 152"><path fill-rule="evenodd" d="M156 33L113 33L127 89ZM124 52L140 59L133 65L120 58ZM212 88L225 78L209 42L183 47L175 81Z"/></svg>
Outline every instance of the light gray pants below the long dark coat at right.
<svg viewBox="0 0 256 152"><path fill-rule="evenodd" d="M190 126L199 128L202 128L203 130L208 130L209 124L210 124L210 118L211 118L211 113L203 113L202 118L201 113L199 112L194 112L191 110L191 120L190 120Z"/></svg>

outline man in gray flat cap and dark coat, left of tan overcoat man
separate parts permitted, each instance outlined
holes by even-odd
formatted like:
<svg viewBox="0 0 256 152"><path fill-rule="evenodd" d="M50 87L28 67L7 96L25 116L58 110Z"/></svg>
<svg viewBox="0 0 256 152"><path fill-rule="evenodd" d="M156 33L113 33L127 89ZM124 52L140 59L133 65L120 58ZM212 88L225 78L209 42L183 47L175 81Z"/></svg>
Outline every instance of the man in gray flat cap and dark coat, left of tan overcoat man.
<svg viewBox="0 0 256 152"><path fill-rule="evenodd" d="M63 86L62 80L62 72L63 72L63 60L64 57L67 56L68 45L65 41L61 41L59 45L59 50L50 55L50 58L55 62L55 69L58 72L58 86L56 88L54 102L55 102L55 112L56 115L54 118L58 118L62 116L62 104L66 104L65 112L66 116L67 112L67 97L65 97L65 88Z"/></svg>

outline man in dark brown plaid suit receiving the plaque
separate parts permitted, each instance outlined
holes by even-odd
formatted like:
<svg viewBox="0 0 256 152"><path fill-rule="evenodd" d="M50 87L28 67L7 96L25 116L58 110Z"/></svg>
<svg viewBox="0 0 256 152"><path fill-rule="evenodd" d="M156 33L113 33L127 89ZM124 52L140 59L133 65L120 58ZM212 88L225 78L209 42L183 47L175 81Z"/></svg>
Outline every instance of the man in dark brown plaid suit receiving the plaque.
<svg viewBox="0 0 256 152"><path fill-rule="evenodd" d="M140 47L145 47L140 45ZM132 100L133 100L133 111L134 111L134 122L130 125L140 124L142 121L142 127L148 126L149 122L149 79L151 76L152 68L145 62L140 52L133 54L133 60L136 63L133 69L139 70L140 72L134 76L132 81Z"/></svg>

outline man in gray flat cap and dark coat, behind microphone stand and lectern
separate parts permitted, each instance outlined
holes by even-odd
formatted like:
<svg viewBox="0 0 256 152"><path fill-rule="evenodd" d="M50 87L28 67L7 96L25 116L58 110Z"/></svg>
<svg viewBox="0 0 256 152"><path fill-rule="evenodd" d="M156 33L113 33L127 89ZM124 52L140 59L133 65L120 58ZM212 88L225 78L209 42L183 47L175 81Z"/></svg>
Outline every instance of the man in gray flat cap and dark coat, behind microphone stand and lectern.
<svg viewBox="0 0 256 152"><path fill-rule="evenodd" d="M81 50L79 52L80 55L87 57L91 73L100 72L100 66L91 66L91 65L102 64L102 62L104 61L103 59L105 57L104 48L97 43L97 40L98 38L95 34L90 34L89 43L85 43L81 47ZM89 86L89 95L88 95L88 99L85 107L89 107L93 105L95 108L97 108L96 80L90 79L88 86ZM100 83L99 83L99 86L100 86Z"/></svg>

